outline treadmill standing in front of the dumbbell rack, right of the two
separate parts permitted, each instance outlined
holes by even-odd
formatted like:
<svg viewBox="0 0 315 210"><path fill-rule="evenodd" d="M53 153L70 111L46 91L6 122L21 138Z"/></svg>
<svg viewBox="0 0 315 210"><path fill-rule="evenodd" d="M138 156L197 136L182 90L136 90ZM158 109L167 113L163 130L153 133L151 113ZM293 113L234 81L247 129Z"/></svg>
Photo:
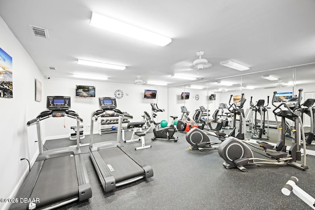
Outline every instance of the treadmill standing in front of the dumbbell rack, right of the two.
<svg viewBox="0 0 315 210"><path fill-rule="evenodd" d="M90 156L98 178L105 192L140 179L153 176L151 166L146 165L137 156L127 151L120 143L122 121L132 116L117 110L116 98L100 97L98 110L92 113ZM116 141L93 143L93 125L102 115L119 115L118 133Z"/></svg>

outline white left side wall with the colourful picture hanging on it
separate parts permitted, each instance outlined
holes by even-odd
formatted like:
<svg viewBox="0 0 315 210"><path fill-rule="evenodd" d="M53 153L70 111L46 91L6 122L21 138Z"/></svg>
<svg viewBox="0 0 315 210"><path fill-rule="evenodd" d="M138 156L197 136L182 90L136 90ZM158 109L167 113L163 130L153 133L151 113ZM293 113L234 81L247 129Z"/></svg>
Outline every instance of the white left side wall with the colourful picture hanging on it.
<svg viewBox="0 0 315 210"><path fill-rule="evenodd" d="M0 31L0 48L12 57L13 65L13 98L0 98L0 198L13 198L29 169L20 158L37 156L36 129L26 123L45 107L35 101L35 78L43 83L44 77L1 17ZM8 204L0 203L0 209L6 208Z"/></svg>

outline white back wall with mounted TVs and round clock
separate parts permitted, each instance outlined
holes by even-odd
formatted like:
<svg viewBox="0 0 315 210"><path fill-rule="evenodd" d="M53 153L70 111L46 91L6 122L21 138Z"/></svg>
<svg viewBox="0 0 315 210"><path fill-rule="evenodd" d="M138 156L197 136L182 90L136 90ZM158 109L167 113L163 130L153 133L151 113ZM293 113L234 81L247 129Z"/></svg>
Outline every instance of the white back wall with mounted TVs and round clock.
<svg viewBox="0 0 315 210"><path fill-rule="evenodd" d="M126 85L109 82L84 81L72 79L51 78L45 80L46 94L43 96L63 95L71 97L71 110L76 111L83 118L84 133L89 134L91 124L91 114L98 108L98 97L115 97L115 90L122 90L124 96L121 99L116 99L117 108L122 112L127 112L133 116L130 121L142 121L144 111L151 114L150 103L157 103L158 108L165 109L165 112L158 112L156 121L165 120L167 118L167 88L149 85ZM56 84L60 84L56 86ZM76 97L76 85L95 86L95 97ZM144 98L144 90L157 90L156 99ZM65 128L63 127L65 122ZM71 118L49 119L43 121L43 127L46 128L43 132L43 138L51 139L60 138L61 135L67 136L73 132L70 127L76 125L76 120ZM98 124L94 124L95 133L98 131Z"/></svg>

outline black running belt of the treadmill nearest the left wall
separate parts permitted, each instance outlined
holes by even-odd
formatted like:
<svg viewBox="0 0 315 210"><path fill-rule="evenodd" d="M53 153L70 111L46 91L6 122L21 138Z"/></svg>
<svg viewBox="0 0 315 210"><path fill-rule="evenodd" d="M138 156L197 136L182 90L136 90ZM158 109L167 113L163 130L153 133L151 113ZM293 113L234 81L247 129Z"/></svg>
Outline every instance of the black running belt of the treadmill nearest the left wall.
<svg viewBox="0 0 315 210"><path fill-rule="evenodd" d="M44 161L30 198L39 198L39 203L36 204L37 209L67 198L77 197L78 193L74 156L65 155Z"/></svg>

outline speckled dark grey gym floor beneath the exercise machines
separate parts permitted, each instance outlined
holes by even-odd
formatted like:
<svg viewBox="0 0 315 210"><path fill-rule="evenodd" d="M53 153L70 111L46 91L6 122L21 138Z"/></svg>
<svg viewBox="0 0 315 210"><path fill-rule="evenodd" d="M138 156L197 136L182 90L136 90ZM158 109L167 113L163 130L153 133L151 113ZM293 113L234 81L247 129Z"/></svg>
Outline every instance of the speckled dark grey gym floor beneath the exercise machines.
<svg viewBox="0 0 315 210"><path fill-rule="evenodd" d="M228 132L228 131L226 131ZM94 134L95 142L116 140L117 133ZM123 143L126 149L152 166L154 176L138 180L105 193L98 180L88 147L81 147L91 182L93 196L84 202L74 202L61 209L72 210L293 210L310 209L293 193L285 196L281 189L295 176L298 186L315 196L315 157L308 155L309 170L292 166L248 166L248 172L225 169L218 150L189 150L184 133L175 133L178 142L156 140L148 132L146 145L152 148L134 150L140 142ZM126 139L131 133L126 134ZM250 137L250 134L247 134ZM270 129L269 142L277 142L277 130ZM212 137L215 138L215 137ZM89 143L86 136L81 143ZM287 138L287 142L292 142ZM46 141L53 149L75 145L75 141L58 139ZM308 149L314 146L308 146ZM315 149L315 148L313 148ZM254 153L255 155L256 153Z"/></svg>

